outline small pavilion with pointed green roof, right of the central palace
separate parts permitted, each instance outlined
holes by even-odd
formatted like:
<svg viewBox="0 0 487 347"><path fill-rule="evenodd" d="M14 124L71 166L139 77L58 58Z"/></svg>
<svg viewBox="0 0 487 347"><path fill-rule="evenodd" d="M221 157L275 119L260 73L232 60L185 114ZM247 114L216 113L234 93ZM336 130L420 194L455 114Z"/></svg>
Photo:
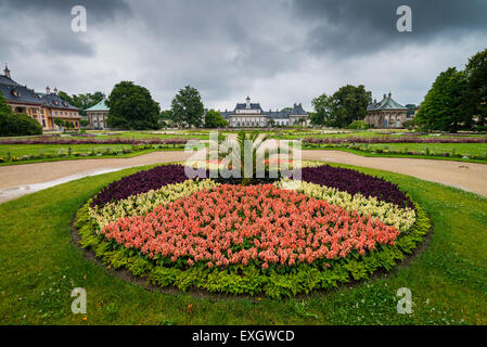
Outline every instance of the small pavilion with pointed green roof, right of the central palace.
<svg viewBox="0 0 487 347"><path fill-rule="evenodd" d="M393 100L392 93L384 94L384 98L377 102L374 100L367 107L367 116L363 119L374 128L403 128L408 120L408 108Z"/></svg>

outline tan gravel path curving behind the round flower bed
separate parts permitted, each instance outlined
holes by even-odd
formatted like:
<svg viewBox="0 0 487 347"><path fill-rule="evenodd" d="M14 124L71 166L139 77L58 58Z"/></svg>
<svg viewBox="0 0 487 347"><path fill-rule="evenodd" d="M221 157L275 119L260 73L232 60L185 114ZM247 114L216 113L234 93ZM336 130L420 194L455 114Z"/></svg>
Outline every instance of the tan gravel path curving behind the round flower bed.
<svg viewBox="0 0 487 347"><path fill-rule="evenodd" d="M131 158L46 162L0 167L0 203L81 177L128 167L184 160L182 151ZM350 164L413 176L487 196L487 165L450 160L363 157L341 151L303 151L303 159Z"/></svg>

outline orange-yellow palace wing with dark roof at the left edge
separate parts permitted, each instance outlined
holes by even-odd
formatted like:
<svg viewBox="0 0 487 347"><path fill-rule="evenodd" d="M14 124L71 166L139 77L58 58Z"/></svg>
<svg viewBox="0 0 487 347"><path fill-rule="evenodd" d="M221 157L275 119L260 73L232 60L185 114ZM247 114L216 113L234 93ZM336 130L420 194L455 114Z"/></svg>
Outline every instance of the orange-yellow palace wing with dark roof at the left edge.
<svg viewBox="0 0 487 347"><path fill-rule="evenodd" d="M72 123L74 129L79 129L79 110L71 105L57 94L54 88L46 88L46 93L37 93L34 89L27 88L14 81L11 72L5 65L4 75L0 75L0 93L7 99L7 103L14 113L26 114L42 126L43 130L55 130L57 126L54 119L60 118Z"/></svg>

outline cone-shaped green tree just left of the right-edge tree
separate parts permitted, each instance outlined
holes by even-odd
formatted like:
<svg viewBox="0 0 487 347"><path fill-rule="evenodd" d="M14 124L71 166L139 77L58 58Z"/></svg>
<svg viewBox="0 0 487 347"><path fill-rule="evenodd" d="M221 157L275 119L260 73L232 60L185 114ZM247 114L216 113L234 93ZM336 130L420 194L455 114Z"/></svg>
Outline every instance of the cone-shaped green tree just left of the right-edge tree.
<svg viewBox="0 0 487 347"><path fill-rule="evenodd" d="M465 107L466 87L465 72L450 67L439 74L418 111L415 124L424 130L456 132L470 128L472 114Z"/></svg>

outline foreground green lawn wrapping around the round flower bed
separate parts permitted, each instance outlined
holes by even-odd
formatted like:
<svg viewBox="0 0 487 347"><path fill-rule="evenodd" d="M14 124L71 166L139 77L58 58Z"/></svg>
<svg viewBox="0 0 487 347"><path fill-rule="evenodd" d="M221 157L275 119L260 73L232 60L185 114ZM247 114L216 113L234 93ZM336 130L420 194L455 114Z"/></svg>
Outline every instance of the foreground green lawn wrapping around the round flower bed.
<svg viewBox="0 0 487 347"><path fill-rule="evenodd" d="M0 205L1 324L487 324L486 198L360 169L398 183L430 214L434 233L414 261L386 277L309 297L201 297L126 283L86 260L73 244L69 224L80 205L139 169L80 179ZM86 316L71 311L74 287L87 291ZM412 292L411 316L396 311L400 287Z"/></svg>

